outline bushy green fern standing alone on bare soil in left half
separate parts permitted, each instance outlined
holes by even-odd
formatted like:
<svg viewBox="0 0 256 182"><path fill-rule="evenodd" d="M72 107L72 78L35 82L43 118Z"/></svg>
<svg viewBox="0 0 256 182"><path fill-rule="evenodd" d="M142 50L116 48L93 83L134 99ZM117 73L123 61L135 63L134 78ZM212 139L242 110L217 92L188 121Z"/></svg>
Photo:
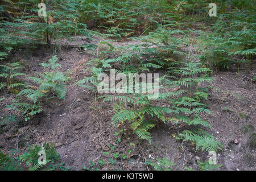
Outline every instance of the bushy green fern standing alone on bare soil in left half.
<svg viewBox="0 0 256 182"><path fill-rule="evenodd" d="M68 81L68 77L56 70L56 68L61 67L56 61L57 56L53 56L48 60L48 63L40 63L44 68L49 68L51 71L38 73L40 77L28 77L37 85L26 85L28 89L23 89L17 94L16 98L26 96L28 101L32 101L21 102L22 100L16 100L13 103L14 106L23 111L25 121L43 111L41 102L47 96L52 97L53 94L56 94L61 99L65 98L65 82Z"/></svg>

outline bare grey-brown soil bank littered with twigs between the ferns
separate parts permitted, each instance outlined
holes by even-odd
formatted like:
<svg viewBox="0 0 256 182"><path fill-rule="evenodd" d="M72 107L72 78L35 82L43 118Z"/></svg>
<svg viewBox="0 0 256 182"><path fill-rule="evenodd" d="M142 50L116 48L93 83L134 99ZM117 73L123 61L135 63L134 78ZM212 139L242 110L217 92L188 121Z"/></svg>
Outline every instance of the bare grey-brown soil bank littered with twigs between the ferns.
<svg viewBox="0 0 256 182"><path fill-rule="evenodd" d="M77 44L83 43L79 40ZM114 47L135 42L112 42ZM137 42L138 43L138 42ZM113 104L95 100L97 96L88 89L80 88L76 82L90 76L85 72L87 61L96 56L90 51L82 52L79 48L63 48L57 57L61 72L69 69L71 81L67 83L65 100L53 98L44 103L42 114L36 115L30 122L23 122L22 113L13 109L6 109L11 105L15 95L5 92L0 101L0 109L5 114L16 115L16 121L5 124L0 131L0 147L5 153L11 149L18 150L13 156L23 154L27 143L42 144L54 142L60 154L60 162L72 170L81 170L84 166L90 168L90 163L98 164L104 160L103 170L148 170L150 166L144 164L148 159L163 159L167 157L177 165L174 170L184 170L184 167L199 169L197 159L201 162L209 159L208 152L195 151L195 146L189 142L181 143L173 137L180 127L174 123L158 125L150 132L152 144L147 141L137 143L137 137L129 130L120 139L115 135L120 129L113 127L111 118L114 114ZM14 52L13 59L22 60L26 66L28 76L36 76L43 72L39 63L46 62L53 54L46 47L38 47L30 54L24 49ZM255 61L254 61L255 62ZM217 152L217 164L222 165L219 170L255 170L256 150L255 134L250 131L256 127L256 85L250 78L255 76L255 63L247 68L229 68L228 71L215 72L214 81L204 86L211 86L209 98L205 100L214 115L201 115L213 130L209 131L224 145L223 151ZM168 105L166 101L159 101L159 105ZM3 113L1 113L3 117ZM253 126L253 127L251 127ZM125 127L125 126L122 126ZM126 131L126 130L125 130ZM130 142L136 143L131 146ZM110 144L112 146L110 146ZM114 146L114 147L113 147ZM128 155L130 160L118 158L112 165L108 164L113 154ZM109 155L102 154L109 152Z"/></svg>

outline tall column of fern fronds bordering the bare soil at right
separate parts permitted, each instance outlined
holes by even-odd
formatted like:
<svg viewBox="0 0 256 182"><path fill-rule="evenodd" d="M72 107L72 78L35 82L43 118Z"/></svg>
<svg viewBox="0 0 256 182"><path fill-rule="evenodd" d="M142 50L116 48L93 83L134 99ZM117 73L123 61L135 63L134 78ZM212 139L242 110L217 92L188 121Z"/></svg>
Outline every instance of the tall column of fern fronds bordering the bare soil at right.
<svg viewBox="0 0 256 182"><path fill-rule="evenodd" d="M205 92L204 88L199 87L199 83L210 82L213 78L198 76L200 73L210 72L210 69L200 68L200 63L195 63L193 61L183 64L185 67L174 68L171 71L174 73L181 73L182 78L177 81L171 81L170 84L187 87L189 95L171 99L172 108L176 110L177 114L175 114L175 117L170 118L170 121L187 123L191 129L179 133L179 137L177 138L183 139L183 141L190 140L191 142L196 143L196 150L200 147L202 148L202 151L222 150L221 147L224 146L215 140L207 131L200 128L208 127L209 129L212 129L212 126L199 116L199 114L202 113L212 114L212 111L207 109L207 105L201 102L203 99L207 100L209 94Z"/></svg>

